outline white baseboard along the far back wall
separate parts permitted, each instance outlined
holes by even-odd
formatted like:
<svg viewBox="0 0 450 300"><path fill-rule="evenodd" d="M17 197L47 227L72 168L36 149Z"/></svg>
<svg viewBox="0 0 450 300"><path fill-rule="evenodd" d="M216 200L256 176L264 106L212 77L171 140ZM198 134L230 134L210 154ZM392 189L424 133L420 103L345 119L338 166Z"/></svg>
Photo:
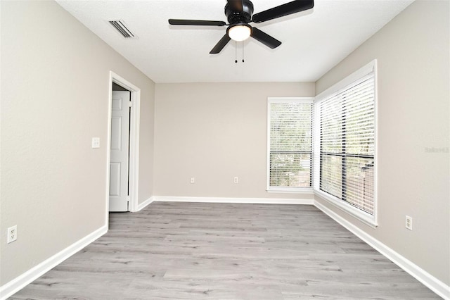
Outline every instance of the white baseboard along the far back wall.
<svg viewBox="0 0 450 300"><path fill-rule="evenodd" d="M306 204L314 205L314 199L274 199L274 198L225 198L225 197L178 197L154 196L153 201L205 202L205 203L246 203L246 204Z"/></svg>

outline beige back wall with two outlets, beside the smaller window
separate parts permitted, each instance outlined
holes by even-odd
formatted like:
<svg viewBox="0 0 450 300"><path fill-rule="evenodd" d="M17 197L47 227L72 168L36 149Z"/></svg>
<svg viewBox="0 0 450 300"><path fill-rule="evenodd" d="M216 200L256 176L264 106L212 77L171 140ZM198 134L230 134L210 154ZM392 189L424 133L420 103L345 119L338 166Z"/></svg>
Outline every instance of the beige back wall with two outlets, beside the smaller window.
<svg viewBox="0 0 450 300"><path fill-rule="evenodd" d="M314 96L314 83L157 84L155 196L311 199L266 192L268 96Z"/></svg>

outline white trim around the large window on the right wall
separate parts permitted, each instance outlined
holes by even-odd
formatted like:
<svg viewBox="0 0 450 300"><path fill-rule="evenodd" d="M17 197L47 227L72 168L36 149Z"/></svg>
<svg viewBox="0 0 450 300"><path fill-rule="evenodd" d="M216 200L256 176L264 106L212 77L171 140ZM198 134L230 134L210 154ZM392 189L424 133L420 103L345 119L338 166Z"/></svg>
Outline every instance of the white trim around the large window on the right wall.
<svg viewBox="0 0 450 300"><path fill-rule="evenodd" d="M373 170L373 215L370 213L366 213L365 211L360 210L359 208L355 208L351 204L348 204L338 197L328 194L326 192L321 191L320 185L320 118L319 118L319 109L316 109L314 112L314 133L313 133L313 190L316 196L320 196L321 199L326 200L328 203L333 204L333 206L340 208L342 211L353 215L355 218L361 220L362 222L370 225L371 227L378 226L378 72L377 72L377 60L373 60L364 67L356 70L351 75L348 75L340 82L336 83L332 87L329 87L325 91L318 94L314 99L314 106L320 103L320 101L327 99L328 96L332 94L339 94L343 90L347 89L349 85L354 85L354 82L361 80L362 77L365 77L369 73L373 73L374 77L374 125L375 125L375 135L374 135L374 170Z"/></svg>

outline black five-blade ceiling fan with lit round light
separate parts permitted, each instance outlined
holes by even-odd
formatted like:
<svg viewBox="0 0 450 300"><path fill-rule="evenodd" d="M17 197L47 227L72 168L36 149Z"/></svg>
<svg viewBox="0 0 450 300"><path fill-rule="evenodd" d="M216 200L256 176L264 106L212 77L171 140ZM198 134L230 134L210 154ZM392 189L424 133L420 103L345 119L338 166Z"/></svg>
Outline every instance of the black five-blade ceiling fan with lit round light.
<svg viewBox="0 0 450 300"><path fill-rule="evenodd" d="M212 48L210 54L218 54L224 46L233 39L236 42L253 37L258 42L274 49L281 45L281 42L265 32L248 25L248 23L262 23L268 20L290 15L292 13L299 13L314 7L314 0L295 0L286 4L267 9L260 13L253 14L253 4L250 0L227 0L225 5L225 15L229 21L226 24L224 21L212 20L182 20L169 19L170 25L199 25L199 26L228 26L226 34L219 40L219 42Z"/></svg>

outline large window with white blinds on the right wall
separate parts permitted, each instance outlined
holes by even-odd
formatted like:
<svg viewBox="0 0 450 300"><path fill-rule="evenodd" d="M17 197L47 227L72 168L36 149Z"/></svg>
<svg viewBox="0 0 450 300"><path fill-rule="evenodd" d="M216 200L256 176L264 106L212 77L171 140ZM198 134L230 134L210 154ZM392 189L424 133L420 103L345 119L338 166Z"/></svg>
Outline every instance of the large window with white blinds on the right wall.
<svg viewBox="0 0 450 300"><path fill-rule="evenodd" d="M375 64L316 97L314 192L375 219Z"/></svg>

